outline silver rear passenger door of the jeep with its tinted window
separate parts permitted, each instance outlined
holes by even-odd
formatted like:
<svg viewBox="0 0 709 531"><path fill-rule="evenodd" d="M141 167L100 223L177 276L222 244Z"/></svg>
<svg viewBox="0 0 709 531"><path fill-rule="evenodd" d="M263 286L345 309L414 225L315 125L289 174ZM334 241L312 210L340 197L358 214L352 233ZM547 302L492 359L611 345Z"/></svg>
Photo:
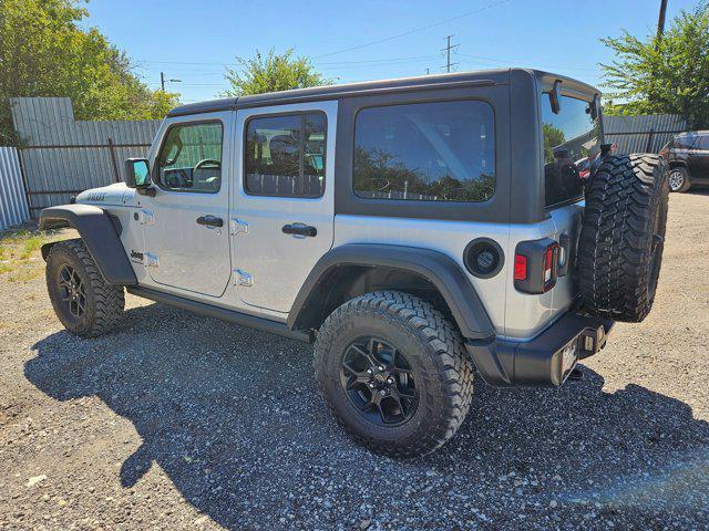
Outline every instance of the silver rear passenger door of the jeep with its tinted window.
<svg viewBox="0 0 709 531"><path fill-rule="evenodd" d="M288 312L332 246L337 102L242 110L233 263L240 300Z"/></svg>

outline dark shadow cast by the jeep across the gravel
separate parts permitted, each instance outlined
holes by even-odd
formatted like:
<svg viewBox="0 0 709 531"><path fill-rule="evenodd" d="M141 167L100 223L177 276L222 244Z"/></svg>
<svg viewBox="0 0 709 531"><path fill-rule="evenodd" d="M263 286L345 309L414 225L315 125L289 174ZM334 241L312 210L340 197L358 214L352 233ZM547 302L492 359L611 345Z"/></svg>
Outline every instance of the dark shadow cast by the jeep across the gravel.
<svg viewBox="0 0 709 531"><path fill-rule="evenodd" d="M130 327L105 337L38 342L24 374L58 400L95 395L133 423L142 445L116 481L132 487L158 464L226 528L499 527L544 521L556 503L553 517L709 518L709 425L644 387L606 393L587 368L562 389L476 381L458 436L397 461L336 426L308 345L157 304L126 313Z"/></svg>

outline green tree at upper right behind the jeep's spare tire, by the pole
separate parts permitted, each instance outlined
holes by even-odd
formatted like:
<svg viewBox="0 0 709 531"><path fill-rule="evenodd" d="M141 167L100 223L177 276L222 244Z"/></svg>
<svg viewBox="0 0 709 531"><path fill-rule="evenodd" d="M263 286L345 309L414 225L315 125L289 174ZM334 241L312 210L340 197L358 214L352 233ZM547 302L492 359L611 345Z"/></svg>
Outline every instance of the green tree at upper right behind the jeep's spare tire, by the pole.
<svg viewBox="0 0 709 531"><path fill-rule="evenodd" d="M681 11L661 37L638 39L624 31L602 39L618 59L602 64L608 114L679 114L690 127L709 126L709 11L700 3Z"/></svg>

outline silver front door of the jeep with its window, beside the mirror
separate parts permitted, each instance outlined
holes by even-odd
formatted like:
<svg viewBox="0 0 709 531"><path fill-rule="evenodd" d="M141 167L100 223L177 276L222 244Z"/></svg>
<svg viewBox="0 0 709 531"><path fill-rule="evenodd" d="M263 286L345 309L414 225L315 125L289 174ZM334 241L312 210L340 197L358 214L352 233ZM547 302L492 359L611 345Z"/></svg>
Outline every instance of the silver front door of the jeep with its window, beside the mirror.
<svg viewBox="0 0 709 531"><path fill-rule="evenodd" d="M171 123L153 160L155 197L142 197L151 279L220 296L230 275L228 137L232 113Z"/></svg>

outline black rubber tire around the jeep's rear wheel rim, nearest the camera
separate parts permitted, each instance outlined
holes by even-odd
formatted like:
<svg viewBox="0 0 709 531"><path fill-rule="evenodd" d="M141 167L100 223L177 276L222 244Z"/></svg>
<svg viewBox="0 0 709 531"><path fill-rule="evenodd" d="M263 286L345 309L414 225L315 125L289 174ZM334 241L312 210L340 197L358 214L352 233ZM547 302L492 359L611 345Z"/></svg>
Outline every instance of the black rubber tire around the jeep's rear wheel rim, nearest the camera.
<svg viewBox="0 0 709 531"><path fill-rule="evenodd" d="M411 418L381 426L364 418L340 382L348 344L380 337L407 357L419 391ZM320 327L315 372L337 421L369 449L392 457L425 455L458 430L473 395L473 368L461 335L439 311L408 293L368 293L339 306Z"/></svg>

